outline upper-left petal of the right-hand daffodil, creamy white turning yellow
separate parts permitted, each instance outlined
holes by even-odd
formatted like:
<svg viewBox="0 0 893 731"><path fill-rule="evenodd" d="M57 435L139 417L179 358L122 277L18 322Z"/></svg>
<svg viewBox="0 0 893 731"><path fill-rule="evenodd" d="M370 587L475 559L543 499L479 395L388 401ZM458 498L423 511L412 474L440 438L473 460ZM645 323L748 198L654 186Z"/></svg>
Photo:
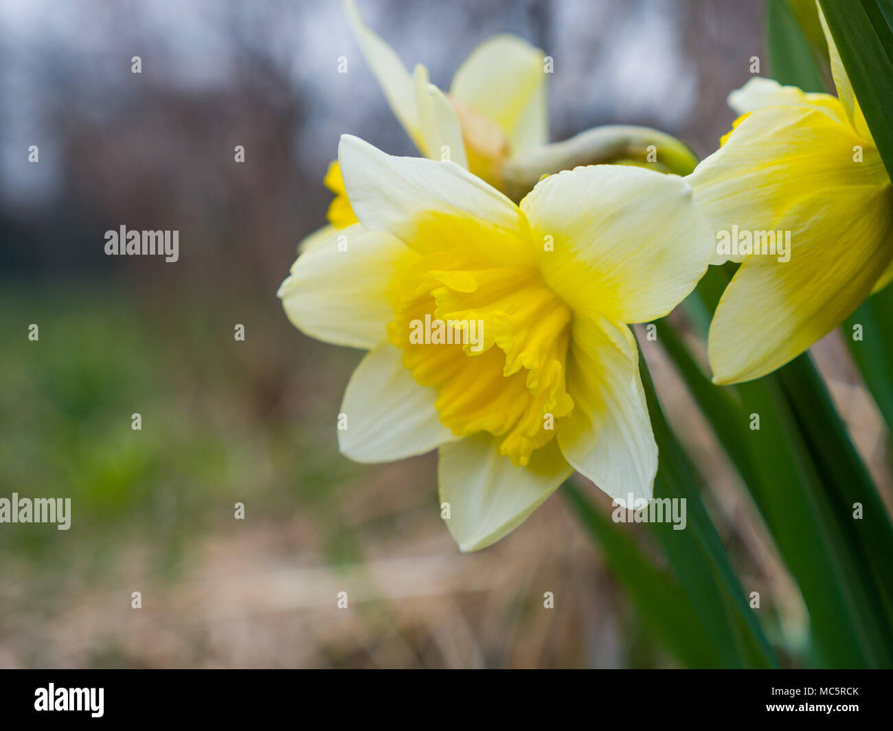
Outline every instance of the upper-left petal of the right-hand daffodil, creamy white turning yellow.
<svg viewBox="0 0 893 731"><path fill-rule="evenodd" d="M854 149L863 162L854 161ZM884 185L889 179L877 148L814 108L774 106L750 112L725 145L687 177L714 229L714 242L733 226L789 229L786 215L817 190ZM849 214L851 215L851 214ZM717 253L714 260L742 261Z"/></svg>

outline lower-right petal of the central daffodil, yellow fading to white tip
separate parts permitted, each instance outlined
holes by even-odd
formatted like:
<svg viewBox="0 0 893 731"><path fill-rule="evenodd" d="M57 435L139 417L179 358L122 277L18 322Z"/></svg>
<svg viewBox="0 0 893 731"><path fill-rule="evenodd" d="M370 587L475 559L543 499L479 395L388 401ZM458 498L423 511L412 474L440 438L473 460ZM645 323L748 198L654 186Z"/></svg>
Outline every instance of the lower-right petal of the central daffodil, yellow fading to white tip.
<svg viewBox="0 0 893 731"><path fill-rule="evenodd" d="M657 473L657 444L638 374L630 329L578 315L568 355L571 415L557 424L558 444L572 467L614 500L649 500Z"/></svg>

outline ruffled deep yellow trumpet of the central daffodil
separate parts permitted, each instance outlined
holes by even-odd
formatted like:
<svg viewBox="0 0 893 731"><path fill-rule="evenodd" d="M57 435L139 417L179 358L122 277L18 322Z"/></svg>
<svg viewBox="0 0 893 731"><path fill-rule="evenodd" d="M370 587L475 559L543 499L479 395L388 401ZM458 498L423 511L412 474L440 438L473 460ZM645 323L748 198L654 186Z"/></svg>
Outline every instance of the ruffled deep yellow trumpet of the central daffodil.
<svg viewBox="0 0 893 731"><path fill-rule="evenodd" d="M500 453L526 465L573 408L564 383L571 310L532 261L481 256L497 245L459 226L453 245L433 246L396 278L388 339L413 378L438 390L440 420L456 436L489 432L501 437Z"/></svg>

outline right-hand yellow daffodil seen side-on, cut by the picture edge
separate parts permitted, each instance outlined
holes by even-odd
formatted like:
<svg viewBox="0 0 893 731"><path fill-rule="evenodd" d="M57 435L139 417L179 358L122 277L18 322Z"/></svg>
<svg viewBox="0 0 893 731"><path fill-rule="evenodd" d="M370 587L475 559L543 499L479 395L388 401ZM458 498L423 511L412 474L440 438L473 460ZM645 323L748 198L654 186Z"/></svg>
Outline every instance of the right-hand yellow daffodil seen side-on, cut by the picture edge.
<svg viewBox="0 0 893 731"><path fill-rule="evenodd" d="M688 177L718 241L760 247L713 262L741 262L710 327L715 383L780 368L893 278L893 187L821 20L837 98L751 79L729 96L742 116Z"/></svg>

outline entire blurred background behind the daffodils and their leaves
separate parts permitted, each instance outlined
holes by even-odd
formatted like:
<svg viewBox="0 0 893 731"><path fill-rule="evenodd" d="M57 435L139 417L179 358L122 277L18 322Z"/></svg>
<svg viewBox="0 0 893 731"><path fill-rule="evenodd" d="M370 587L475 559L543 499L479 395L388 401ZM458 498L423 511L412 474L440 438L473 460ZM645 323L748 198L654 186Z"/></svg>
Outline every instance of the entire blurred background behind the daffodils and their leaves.
<svg viewBox="0 0 893 731"><path fill-rule="evenodd" d="M709 154L764 50L757 2L357 4L440 87L496 33L544 49L554 140L644 124ZM0 0L0 497L72 503L68 531L0 525L0 667L672 666L560 492L462 555L433 455L338 454L362 353L302 336L276 290L324 223L342 133L416 154L336 0ZM106 257L121 225L178 229L179 262ZM889 501L888 435L836 338L819 365ZM742 584L797 664L797 589L643 345Z"/></svg>

